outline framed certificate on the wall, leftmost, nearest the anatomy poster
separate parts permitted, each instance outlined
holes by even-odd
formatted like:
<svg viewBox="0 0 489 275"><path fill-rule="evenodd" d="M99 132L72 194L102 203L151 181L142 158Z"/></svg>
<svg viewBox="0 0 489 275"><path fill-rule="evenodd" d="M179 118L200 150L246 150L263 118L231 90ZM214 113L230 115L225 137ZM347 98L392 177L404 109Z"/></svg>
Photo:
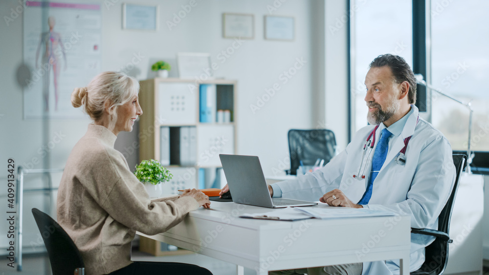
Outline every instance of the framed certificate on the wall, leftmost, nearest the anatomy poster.
<svg viewBox="0 0 489 275"><path fill-rule="evenodd" d="M158 29L158 5L122 4L122 28L156 31Z"/></svg>

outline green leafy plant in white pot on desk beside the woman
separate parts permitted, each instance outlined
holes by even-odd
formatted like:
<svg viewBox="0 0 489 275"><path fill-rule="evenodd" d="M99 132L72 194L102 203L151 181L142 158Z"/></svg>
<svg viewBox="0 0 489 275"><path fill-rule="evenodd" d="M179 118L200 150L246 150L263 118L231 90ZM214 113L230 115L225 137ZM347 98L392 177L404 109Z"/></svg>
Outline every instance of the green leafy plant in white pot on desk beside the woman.
<svg viewBox="0 0 489 275"><path fill-rule="evenodd" d="M162 183L170 181L173 177L170 170L154 159L141 161L136 165L134 175L144 184L151 198L159 197L163 191Z"/></svg>

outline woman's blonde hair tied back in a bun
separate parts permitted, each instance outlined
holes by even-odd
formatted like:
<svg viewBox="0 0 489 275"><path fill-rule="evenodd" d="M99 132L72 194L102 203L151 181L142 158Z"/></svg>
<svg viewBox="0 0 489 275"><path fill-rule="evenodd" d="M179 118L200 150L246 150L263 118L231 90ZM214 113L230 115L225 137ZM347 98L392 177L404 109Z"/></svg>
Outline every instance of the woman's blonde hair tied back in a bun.
<svg viewBox="0 0 489 275"><path fill-rule="evenodd" d="M85 112L93 121L102 118L106 105L109 105L112 130L117 122L117 107L130 101L139 92L139 82L121 72L102 72L95 76L87 87L74 88L71 105L85 106Z"/></svg>

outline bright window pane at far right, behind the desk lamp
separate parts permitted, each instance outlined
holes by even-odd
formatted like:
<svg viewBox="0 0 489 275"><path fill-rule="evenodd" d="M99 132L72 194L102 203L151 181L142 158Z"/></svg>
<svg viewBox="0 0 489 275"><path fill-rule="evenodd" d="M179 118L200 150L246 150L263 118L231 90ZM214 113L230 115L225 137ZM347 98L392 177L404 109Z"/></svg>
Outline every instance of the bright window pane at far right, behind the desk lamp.
<svg viewBox="0 0 489 275"><path fill-rule="evenodd" d="M489 1L431 0L431 85L472 100L471 150L489 151ZM432 93L432 123L452 149L467 150L467 107Z"/></svg>

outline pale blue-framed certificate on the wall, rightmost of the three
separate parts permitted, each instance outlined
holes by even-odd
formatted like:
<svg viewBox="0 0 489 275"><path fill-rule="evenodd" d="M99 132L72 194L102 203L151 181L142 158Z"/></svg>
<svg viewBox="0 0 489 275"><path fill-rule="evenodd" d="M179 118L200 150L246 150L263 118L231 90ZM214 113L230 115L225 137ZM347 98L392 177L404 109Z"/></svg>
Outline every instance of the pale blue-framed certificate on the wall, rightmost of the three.
<svg viewBox="0 0 489 275"><path fill-rule="evenodd" d="M286 16L265 16L265 39L294 40L294 18Z"/></svg>

